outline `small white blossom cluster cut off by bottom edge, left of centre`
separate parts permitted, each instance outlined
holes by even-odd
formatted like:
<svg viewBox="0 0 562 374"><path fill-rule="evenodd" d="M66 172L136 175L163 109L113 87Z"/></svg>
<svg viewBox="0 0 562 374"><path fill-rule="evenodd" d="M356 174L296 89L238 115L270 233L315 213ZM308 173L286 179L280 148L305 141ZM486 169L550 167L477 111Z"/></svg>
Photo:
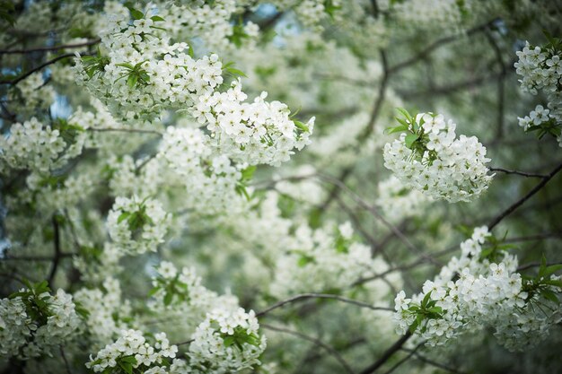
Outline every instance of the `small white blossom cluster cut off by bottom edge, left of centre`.
<svg viewBox="0 0 562 374"><path fill-rule="evenodd" d="M121 368L126 373L133 369L145 374L168 373L166 359L175 358L178 347L170 344L165 333L154 335L154 341L154 345L146 342L138 330L123 330L116 342L107 344L95 358L91 356L86 368L96 373L109 368Z"/></svg>

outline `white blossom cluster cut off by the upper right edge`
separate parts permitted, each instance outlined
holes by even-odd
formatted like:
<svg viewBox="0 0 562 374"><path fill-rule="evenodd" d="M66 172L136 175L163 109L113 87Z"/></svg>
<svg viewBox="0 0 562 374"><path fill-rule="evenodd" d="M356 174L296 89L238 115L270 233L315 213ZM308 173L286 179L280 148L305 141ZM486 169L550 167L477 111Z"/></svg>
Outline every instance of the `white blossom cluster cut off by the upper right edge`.
<svg viewBox="0 0 562 374"><path fill-rule="evenodd" d="M539 131L539 137L550 134L558 138L562 146L562 46L550 42L547 46L532 47L526 42L525 47L517 52L519 60L514 64L517 74L522 76L522 91L533 95L544 91L548 105L538 105L525 117L518 117L519 126L525 131Z"/></svg>

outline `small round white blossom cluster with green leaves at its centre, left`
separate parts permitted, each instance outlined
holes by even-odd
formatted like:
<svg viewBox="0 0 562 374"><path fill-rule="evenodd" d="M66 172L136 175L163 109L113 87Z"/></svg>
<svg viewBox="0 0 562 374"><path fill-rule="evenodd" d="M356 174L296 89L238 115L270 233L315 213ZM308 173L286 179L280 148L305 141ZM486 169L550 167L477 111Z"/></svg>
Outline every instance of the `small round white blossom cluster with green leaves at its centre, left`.
<svg viewBox="0 0 562 374"><path fill-rule="evenodd" d="M169 215L153 199L117 197L108 214L108 230L115 245L130 254L155 252L163 243Z"/></svg>

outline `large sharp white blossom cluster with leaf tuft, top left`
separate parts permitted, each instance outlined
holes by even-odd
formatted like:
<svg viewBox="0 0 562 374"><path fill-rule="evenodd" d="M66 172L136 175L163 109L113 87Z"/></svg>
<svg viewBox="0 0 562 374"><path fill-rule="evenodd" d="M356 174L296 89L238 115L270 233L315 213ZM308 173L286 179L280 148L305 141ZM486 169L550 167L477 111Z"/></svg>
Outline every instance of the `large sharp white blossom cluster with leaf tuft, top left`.
<svg viewBox="0 0 562 374"><path fill-rule="evenodd" d="M75 70L78 83L117 118L151 119L165 109L186 108L223 83L218 56L196 60L187 43L170 44L170 36L157 26L162 17L141 13L132 24L122 14L112 17L101 32L107 56L76 58Z"/></svg>

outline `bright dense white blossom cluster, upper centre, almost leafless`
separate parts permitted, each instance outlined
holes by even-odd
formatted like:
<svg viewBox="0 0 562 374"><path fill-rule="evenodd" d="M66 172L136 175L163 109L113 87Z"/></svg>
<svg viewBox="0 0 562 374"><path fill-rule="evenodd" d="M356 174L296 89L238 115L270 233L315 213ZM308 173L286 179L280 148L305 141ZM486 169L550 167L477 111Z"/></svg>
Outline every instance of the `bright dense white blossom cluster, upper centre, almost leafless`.
<svg viewBox="0 0 562 374"><path fill-rule="evenodd" d="M210 144L234 161L279 166L294 148L300 151L311 143L314 117L306 124L293 121L284 103L268 102L267 96L262 92L252 103L243 102L247 95L238 80L228 91L201 96L191 113L199 123L208 123Z"/></svg>

